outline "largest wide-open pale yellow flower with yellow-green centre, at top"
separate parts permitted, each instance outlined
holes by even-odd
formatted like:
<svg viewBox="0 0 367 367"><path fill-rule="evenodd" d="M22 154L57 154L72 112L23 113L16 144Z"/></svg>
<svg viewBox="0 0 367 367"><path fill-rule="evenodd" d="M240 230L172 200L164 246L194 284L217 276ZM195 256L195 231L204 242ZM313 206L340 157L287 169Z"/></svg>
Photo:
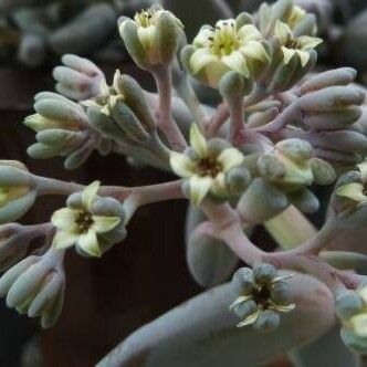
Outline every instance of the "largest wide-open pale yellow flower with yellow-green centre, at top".
<svg viewBox="0 0 367 367"><path fill-rule="evenodd" d="M184 49L186 69L202 83L218 87L228 71L245 77L253 76L259 66L270 61L264 40L252 23L237 20L220 20L216 27L203 25L192 45Z"/></svg>

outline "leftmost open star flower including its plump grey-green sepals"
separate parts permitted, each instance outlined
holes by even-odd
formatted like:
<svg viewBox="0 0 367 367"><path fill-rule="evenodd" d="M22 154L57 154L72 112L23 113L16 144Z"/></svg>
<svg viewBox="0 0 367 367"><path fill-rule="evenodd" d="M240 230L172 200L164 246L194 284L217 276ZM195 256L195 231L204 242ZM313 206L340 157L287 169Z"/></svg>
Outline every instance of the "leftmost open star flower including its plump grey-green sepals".
<svg viewBox="0 0 367 367"><path fill-rule="evenodd" d="M126 234L124 210L113 198L97 196L95 181L82 192L69 197L67 208L55 211L52 223L56 227L53 245L66 249L76 245L82 254L101 256Z"/></svg>

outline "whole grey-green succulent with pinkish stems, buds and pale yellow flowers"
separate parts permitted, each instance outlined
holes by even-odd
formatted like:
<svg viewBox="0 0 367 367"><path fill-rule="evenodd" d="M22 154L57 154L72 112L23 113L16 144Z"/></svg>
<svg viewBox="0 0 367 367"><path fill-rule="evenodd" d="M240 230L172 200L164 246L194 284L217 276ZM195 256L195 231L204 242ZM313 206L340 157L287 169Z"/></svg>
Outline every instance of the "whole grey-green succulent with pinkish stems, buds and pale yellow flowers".
<svg viewBox="0 0 367 367"><path fill-rule="evenodd" d="M213 289L133 333L98 366L254 366L291 349L305 366L315 365L310 350L323 343L344 348L348 367L357 366L359 357L340 340L367 354L366 255L348 240L343 251L333 245L343 237L365 242L357 235L367 223L365 88L350 67L312 72L322 39L308 8L322 18L328 7L279 0L237 15L220 1L216 7L226 19L202 25L192 41L185 34L190 25L158 4L113 21L156 92L120 71L108 81L92 61L63 56L53 72L57 93L39 93L35 114L24 120L36 139L28 154L61 156L75 169L94 150L116 153L177 179L84 186L0 161L0 269L7 270L0 295L50 327L64 303L66 251L103 256L125 239L139 208L187 200L188 268ZM71 25L76 39L90 24L85 17ZM54 45L63 34L51 38ZM219 103L203 104L195 83ZM319 209L318 186L332 193L316 230L305 214ZM45 223L13 222L42 196L63 196L65 206ZM252 242L256 226L268 229L277 251ZM44 241L30 253L35 238ZM245 265L238 270L240 261Z"/></svg>

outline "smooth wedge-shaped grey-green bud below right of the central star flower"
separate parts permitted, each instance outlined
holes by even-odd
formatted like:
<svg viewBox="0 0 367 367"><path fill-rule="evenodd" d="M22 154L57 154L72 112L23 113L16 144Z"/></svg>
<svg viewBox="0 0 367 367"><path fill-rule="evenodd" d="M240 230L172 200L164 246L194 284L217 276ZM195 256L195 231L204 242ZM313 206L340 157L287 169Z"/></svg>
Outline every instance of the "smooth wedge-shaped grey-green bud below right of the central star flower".
<svg viewBox="0 0 367 367"><path fill-rule="evenodd" d="M289 207L286 196L261 178L255 178L242 195L238 210L250 223L258 224L275 217Z"/></svg>

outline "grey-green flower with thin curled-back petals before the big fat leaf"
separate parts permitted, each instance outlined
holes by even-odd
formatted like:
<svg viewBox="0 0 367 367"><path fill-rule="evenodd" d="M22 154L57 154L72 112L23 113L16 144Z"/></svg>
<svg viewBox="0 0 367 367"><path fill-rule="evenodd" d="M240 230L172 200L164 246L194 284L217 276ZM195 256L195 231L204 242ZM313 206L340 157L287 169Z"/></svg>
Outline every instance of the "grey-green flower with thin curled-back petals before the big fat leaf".
<svg viewBox="0 0 367 367"><path fill-rule="evenodd" d="M242 318L238 327L252 325L263 332L275 329L280 324L279 314L295 307L290 301L287 281L291 276L280 274L268 263L259 263L253 270L238 270L232 284L239 297L230 306Z"/></svg>

